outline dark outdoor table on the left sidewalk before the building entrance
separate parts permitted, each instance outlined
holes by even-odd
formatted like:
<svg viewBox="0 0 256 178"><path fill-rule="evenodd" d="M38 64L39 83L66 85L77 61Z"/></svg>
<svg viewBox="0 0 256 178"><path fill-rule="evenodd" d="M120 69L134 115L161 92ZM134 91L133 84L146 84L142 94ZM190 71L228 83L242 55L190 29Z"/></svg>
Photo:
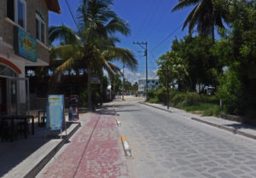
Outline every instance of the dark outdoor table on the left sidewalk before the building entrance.
<svg viewBox="0 0 256 178"><path fill-rule="evenodd" d="M11 125L14 128L15 127L15 120L23 120L25 123L27 123L27 119L32 119L32 135L34 135L34 116L32 115L13 115L13 116L3 116L1 117L2 122L4 120L11 120ZM27 138L27 130L24 131L24 136Z"/></svg>

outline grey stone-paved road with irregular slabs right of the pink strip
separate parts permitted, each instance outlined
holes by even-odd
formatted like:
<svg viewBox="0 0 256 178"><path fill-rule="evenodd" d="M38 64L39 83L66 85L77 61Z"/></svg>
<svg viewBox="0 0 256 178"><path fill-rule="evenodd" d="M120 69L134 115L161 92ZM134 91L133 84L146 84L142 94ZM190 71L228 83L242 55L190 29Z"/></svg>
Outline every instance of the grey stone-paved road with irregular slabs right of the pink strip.
<svg viewBox="0 0 256 178"><path fill-rule="evenodd" d="M256 177L256 141L138 100L114 103L131 146L131 177Z"/></svg>

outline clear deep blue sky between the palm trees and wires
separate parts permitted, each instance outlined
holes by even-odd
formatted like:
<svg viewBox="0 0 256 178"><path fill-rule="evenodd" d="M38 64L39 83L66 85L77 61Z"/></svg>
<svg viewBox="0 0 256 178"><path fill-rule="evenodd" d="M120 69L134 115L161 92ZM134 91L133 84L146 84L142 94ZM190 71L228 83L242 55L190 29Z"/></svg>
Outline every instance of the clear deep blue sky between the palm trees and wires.
<svg viewBox="0 0 256 178"><path fill-rule="evenodd" d="M73 14L79 7L80 0L67 0ZM125 69L125 76L134 83L139 78L145 78L145 57L143 49L133 44L133 41L148 42L148 78L157 78L155 71L157 65L155 61L160 55L163 55L171 49L172 40L183 38L188 34L188 28L182 31L180 26L186 19L189 11L192 9L182 9L172 13L172 8L177 4L178 0L113 0L112 9L122 19L129 22L131 26L131 35L128 37L119 36L121 43L116 45L121 48L131 49L138 60L137 72L131 72ZM61 5L61 14L49 13L49 26L58 26L64 24L76 30L72 16L67 9L65 0L59 0ZM164 43L161 43L172 32ZM155 48L161 43L157 48ZM122 66L117 63L118 66Z"/></svg>

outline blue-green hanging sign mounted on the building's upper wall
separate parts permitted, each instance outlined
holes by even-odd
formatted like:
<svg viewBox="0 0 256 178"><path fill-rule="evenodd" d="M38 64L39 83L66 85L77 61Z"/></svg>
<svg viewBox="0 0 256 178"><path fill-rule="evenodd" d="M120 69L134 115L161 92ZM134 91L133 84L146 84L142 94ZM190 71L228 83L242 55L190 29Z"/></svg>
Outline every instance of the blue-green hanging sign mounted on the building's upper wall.
<svg viewBox="0 0 256 178"><path fill-rule="evenodd" d="M27 60L38 61L37 40L17 26L15 27L15 54Z"/></svg>

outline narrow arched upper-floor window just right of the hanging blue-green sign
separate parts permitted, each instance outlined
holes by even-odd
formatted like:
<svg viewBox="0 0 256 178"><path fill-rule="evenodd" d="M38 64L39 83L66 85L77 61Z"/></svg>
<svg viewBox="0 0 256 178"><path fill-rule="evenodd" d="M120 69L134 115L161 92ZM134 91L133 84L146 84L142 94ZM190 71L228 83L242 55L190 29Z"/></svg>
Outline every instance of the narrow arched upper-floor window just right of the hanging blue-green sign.
<svg viewBox="0 0 256 178"><path fill-rule="evenodd" d="M45 21L44 21L44 16L42 16L41 13L37 11L36 14L36 30L37 30L37 39L45 43Z"/></svg>

